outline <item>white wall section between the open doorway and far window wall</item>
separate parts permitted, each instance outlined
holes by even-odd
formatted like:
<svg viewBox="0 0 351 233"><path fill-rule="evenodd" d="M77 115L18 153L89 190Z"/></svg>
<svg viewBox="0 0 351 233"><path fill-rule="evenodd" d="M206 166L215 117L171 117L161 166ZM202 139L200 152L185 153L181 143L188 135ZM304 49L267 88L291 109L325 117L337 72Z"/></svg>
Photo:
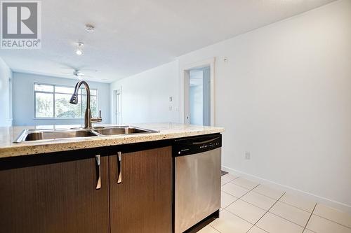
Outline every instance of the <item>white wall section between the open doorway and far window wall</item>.
<svg viewBox="0 0 351 233"><path fill-rule="evenodd" d="M177 61L112 83L112 98L114 90L121 87L122 124L178 122L178 85ZM173 97L173 101L170 102L169 97Z"/></svg>

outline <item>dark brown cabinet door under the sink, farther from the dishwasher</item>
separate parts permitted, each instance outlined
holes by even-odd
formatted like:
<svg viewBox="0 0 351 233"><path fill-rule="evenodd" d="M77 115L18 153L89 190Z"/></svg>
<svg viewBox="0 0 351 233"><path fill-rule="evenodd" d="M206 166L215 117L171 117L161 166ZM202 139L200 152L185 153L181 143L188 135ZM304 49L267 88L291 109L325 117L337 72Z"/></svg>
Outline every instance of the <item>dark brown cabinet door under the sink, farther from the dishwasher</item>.
<svg viewBox="0 0 351 233"><path fill-rule="evenodd" d="M95 157L1 170L0 232L109 232L108 157L99 190L98 171Z"/></svg>

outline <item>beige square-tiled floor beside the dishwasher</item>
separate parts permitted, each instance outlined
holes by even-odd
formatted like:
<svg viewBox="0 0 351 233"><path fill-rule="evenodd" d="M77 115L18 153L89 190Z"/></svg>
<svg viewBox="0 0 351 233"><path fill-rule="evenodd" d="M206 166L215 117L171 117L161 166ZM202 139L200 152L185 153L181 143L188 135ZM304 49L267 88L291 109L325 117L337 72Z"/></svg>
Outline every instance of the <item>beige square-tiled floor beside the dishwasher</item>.
<svg viewBox="0 0 351 233"><path fill-rule="evenodd" d="M222 176L220 218L199 233L351 233L351 215L248 179Z"/></svg>

